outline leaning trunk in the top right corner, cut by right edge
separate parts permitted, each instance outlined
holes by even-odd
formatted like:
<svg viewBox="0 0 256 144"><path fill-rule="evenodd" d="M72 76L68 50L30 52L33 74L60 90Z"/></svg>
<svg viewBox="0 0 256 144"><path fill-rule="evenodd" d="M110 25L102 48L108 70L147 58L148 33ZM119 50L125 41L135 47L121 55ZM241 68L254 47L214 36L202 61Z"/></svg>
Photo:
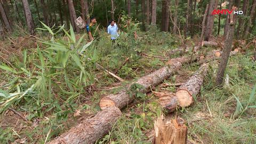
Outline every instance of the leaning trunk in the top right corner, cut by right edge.
<svg viewBox="0 0 256 144"><path fill-rule="evenodd" d="M252 8L250 11L250 19L245 29L244 38L247 38L249 36L249 34L252 31L253 23L255 23L255 13L256 13L255 8L256 8L256 0L253 0Z"/></svg>

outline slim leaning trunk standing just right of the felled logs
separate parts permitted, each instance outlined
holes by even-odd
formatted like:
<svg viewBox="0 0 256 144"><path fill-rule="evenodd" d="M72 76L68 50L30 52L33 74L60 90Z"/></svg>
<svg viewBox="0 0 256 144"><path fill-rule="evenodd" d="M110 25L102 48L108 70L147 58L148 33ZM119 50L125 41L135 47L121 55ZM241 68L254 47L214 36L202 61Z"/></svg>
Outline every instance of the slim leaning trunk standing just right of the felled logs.
<svg viewBox="0 0 256 144"><path fill-rule="evenodd" d="M235 9L235 7L233 6ZM231 9L230 9L231 10ZM232 43L234 39L234 33L235 33L235 27L236 27L236 15L230 14L228 15L228 26L227 26L227 35L225 37L225 42L224 42L224 47L223 47L223 52L222 52L222 57L217 73L217 78L216 78L216 85L221 85L223 82L223 76L225 73L225 69L227 67L228 63L228 58L230 55L230 51L232 49Z"/></svg>

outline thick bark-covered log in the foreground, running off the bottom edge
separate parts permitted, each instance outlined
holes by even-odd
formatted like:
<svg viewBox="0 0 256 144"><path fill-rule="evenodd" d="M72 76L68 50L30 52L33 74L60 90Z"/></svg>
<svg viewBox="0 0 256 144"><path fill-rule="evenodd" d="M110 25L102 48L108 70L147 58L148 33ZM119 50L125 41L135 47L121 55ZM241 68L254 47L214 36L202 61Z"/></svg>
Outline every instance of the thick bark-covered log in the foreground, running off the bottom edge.
<svg viewBox="0 0 256 144"><path fill-rule="evenodd" d="M94 143L108 134L116 119L121 115L122 112L117 107L108 107L61 134L49 144Z"/></svg>

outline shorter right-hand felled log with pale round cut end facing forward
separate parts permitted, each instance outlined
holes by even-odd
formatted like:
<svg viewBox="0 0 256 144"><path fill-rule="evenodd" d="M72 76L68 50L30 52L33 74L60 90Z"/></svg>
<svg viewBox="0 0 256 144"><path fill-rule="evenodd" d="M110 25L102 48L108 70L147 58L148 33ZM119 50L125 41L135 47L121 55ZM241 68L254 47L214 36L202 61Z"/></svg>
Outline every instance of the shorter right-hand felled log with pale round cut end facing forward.
<svg viewBox="0 0 256 144"><path fill-rule="evenodd" d="M207 74L209 65L204 63L198 71L188 81L183 83L176 92L177 101L179 106L188 107L193 103L193 95L197 95L204 82L204 77Z"/></svg>

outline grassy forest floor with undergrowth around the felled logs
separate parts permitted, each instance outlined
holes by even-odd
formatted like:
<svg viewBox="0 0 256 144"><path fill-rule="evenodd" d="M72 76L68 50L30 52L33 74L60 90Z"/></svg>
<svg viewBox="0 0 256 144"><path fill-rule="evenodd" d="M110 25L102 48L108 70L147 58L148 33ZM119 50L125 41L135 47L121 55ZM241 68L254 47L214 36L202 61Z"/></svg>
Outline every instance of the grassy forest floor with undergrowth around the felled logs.
<svg viewBox="0 0 256 144"><path fill-rule="evenodd" d="M45 45L49 42L46 37L43 42L42 39L40 42L30 39L27 42L29 44L22 44L23 46L16 45L19 40L10 43L6 39L1 42L0 60L6 65L2 65L0 69L0 96L5 97L0 99L0 143L45 143L83 119L93 117L100 110L98 104L104 95L116 93L133 79L163 67L166 62L163 58L168 60L181 57L179 52L170 54L172 50L179 49L180 41L177 36L149 31L139 33L137 40L130 41L129 38L129 34L121 34L117 43L112 45L107 37L102 37L86 47L86 55L94 60L81 64L86 69L85 73L91 74L87 77L81 77L82 73L77 73L80 65L75 59L71 62L71 57L68 57L67 61L62 61L58 58L58 52L54 56L55 60L47 57L51 53L46 51ZM61 37L55 39L58 41ZM193 54L191 47L196 43L196 39L188 41L190 49L186 55ZM86 41L79 44L85 45ZM36 47L43 49L42 53ZM214 49L218 48L202 47L198 55L205 55ZM141 52L163 58L149 57ZM190 143L256 142L256 96L253 93L253 87L256 89L256 63L252 60L252 55L253 48L249 47L245 53L230 57L226 69L228 81L222 89L214 84L219 61L211 61L209 73L201 92L194 97L193 105L166 114L169 118L180 116L185 119ZM126 58L129 61L123 65ZM95 68L96 61L110 71L117 71L116 75L125 79L125 82L121 83ZM59 64L55 65L58 62L66 62L64 70ZM73 66L74 63L78 66ZM196 62L187 63L163 83L183 83L198 68ZM66 70L67 73L63 72ZM72 71L77 74L70 74ZM38 82L40 78L41 81ZM86 81L87 85L83 83L86 78L89 79ZM26 91L32 84L38 90ZM152 91L156 92L175 92L176 89L175 86L163 87L163 84L152 87ZM15 97L13 101L8 99L10 94L14 95L12 97L15 94L19 97ZM109 134L97 143L151 143L154 137L154 120L164 113L156 96L149 92L122 109L122 117Z"/></svg>

